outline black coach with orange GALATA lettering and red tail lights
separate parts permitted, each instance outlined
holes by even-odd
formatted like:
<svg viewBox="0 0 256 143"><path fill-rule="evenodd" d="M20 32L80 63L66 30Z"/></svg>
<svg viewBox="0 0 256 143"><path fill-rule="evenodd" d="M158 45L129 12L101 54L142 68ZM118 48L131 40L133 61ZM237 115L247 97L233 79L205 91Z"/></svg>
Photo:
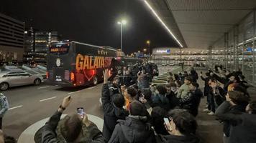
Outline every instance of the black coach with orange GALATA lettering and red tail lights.
<svg viewBox="0 0 256 143"><path fill-rule="evenodd" d="M116 49L78 41L51 43L47 51L47 82L62 87L79 87L103 81Z"/></svg>

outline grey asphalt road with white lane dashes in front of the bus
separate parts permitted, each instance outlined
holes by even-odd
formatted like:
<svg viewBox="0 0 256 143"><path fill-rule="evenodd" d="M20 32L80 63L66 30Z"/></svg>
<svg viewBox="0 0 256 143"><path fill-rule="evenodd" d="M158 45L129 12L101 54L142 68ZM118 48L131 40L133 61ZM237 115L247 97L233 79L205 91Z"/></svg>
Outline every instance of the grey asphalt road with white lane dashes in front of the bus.
<svg viewBox="0 0 256 143"><path fill-rule="evenodd" d="M68 95L71 95L73 101L65 113L76 112L77 107L83 107L86 113L103 118L99 103L101 87L102 84L73 89L42 84L9 89L3 92L10 107L4 116L3 130L6 134L18 138L31 124L50 117Z"/></svg>

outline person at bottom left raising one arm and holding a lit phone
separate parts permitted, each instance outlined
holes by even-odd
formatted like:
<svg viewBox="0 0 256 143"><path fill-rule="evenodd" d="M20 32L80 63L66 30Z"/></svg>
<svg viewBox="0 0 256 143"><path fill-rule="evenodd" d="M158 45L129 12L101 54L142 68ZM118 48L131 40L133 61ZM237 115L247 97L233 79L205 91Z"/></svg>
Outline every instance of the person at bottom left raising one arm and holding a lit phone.
<svg viewBox="0 0 256 143"><path fill-rule="evenodd" d="M56 128L60 122L60 117L64 110L71 103L72 98L70 96L63 99L62 104L58 107L55 114L50 117L45 126L41 127L35 134L34 140L39 142L63 142L57 137ZM68 114L62 119L63 126L60 127L60 132L65 142L81 142L83 137L83 124L88 128L90 134L88 135L88 142L104 142L101 131L98 127L88 120L86 114L83 114L83 119L80 114L73 113Z"/></svg>

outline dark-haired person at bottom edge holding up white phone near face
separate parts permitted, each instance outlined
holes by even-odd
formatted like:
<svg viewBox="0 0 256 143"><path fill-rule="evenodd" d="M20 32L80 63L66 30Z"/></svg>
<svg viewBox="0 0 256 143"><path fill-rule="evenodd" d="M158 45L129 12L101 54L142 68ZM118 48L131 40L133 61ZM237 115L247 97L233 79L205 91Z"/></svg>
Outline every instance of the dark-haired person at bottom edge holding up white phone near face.
<svg viewBox="0 0 256 143"><path fill-rule="evenodd" d="M165 129L168 135L157 135L157 142L171 143L198 143L200 139L196 137L197 123L192 114L183 109L173 109L164 118Z"/></svg>

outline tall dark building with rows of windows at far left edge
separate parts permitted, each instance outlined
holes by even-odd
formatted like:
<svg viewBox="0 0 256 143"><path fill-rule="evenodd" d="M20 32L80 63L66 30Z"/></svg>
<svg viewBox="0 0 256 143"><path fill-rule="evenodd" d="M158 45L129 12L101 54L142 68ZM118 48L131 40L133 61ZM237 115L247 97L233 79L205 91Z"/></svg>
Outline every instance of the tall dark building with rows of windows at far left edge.
<svg viewBox="0 0 256 143"><path fill-rule="evenodd" d="M22 61L24 22L0 14L0 61Z"/></svg>

